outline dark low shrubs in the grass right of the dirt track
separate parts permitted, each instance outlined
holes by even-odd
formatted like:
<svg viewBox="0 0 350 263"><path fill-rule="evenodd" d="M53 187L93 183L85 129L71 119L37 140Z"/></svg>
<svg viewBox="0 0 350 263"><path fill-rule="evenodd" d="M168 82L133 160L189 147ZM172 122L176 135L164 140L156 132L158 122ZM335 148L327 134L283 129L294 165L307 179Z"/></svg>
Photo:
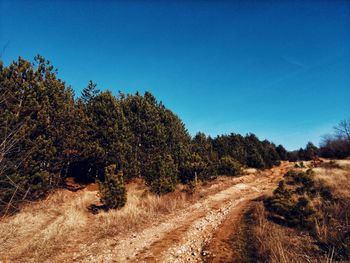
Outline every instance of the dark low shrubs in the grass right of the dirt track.
<svg viewBox="0 0 350 263"><path fill-rule="evenodd" d="M307 231L325 254L332 251L333 259L341 262L350 258L349 204L346 195L315 177L311 169L287 172L264 200L271 220Z"/></svg>

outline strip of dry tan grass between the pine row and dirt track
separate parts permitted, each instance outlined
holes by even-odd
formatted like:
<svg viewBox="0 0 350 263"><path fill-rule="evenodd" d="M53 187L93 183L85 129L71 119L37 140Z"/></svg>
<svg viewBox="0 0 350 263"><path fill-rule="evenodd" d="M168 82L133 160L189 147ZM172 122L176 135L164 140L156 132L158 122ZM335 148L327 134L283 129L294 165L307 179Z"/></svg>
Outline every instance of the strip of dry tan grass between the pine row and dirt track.
<svg viewBox="0 0 350 263"><path fill-rule="evenodd" d="M91 204L99 204L97 191L91 191L95 190L93 187L77 192L59 189L45 200L0 219L0 262L52 262L50 258L73 253L80 244L135 233L239 180L218 178L198 186L193 195L179 185L173 193L163 196L150 193L142 181L135 181L127 185L125 207L97 215L87 209Z"/></svg>

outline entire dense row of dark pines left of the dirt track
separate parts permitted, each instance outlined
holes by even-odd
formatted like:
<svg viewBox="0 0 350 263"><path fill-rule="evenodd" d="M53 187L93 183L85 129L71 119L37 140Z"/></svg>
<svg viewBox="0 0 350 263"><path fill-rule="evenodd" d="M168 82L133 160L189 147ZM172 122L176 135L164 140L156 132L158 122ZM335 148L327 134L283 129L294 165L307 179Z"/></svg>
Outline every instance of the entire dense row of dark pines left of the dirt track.
<svg viewBox="0 0 350 263"><path fill-rule="evenodd" d="M179 117L149 92L114 96L90 81L75 97L40 56L34 63L0 62L0 96L1 212L45 195L71 176L101 181L109 204L114 166L124 180L143 177L160 194L179 181L237 175L240 166L269 168L286 159L282 146L254 134L191 138Z"/></svg>

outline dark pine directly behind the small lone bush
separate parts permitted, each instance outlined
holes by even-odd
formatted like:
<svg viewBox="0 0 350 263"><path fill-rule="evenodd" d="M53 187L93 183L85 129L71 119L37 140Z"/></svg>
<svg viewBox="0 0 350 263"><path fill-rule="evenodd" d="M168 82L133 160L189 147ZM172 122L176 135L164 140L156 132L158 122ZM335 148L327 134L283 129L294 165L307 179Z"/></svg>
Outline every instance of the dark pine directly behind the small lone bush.
<svg viewBox="0 0 350 263"><path fill-rule="evenodd" d="M131 150L128 144L129 127L120 102L111 92L102 92L87 106L90 120L88 144L82 149L95 174L101 176L103 167L117 164L122 170L127 166L126 155Z"/></svg>

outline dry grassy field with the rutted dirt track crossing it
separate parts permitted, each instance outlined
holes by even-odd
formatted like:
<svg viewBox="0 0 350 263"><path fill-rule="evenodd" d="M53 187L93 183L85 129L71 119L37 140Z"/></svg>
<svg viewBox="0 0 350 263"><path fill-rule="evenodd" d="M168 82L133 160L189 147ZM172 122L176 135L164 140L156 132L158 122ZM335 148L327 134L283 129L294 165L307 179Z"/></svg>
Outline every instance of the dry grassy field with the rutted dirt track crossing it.
<svg viewBox="0 0 350 263"><path fill-rule="evenodd" d="M304 163L311 166L310 162ZM127 185L120 210L93 214L97 187L58 189L45 200L26 204L2 218L3 262L326 262L307 232L267 219L262 204L294 163L269 170L245 170L240 177L219 177L190 194L179 185L157 196L143 181ZM306 170L307 168L298 168ZM350 198L350 161L314 168L334 195ZM333 207L332 209L342 209ZM323 227L323 228L322 228ZM320 235L329 235L320 225ZM292 240L292 242L291 242ZM253 257L253 258L252 258ZM260 258L259 258L260 257Z"/></svg>

